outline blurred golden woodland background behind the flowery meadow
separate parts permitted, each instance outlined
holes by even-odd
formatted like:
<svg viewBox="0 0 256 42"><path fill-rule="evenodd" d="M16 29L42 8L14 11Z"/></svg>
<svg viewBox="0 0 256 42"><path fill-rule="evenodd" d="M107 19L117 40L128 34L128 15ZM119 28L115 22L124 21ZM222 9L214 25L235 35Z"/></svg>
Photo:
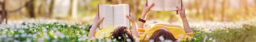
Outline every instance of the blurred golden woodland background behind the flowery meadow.
<svg viewBox="0 0 256 42"><path fill-rule="evenodd" d="M135 19L146 0L0 0L1 22L23 19L67 20L92 24L98 4L130 4ZM240 22L256 19L256 0L182 0L189 22ZM138 22L138 21L137 21ZM175 11L149 11L147 23L181 23Z"/></svg>

